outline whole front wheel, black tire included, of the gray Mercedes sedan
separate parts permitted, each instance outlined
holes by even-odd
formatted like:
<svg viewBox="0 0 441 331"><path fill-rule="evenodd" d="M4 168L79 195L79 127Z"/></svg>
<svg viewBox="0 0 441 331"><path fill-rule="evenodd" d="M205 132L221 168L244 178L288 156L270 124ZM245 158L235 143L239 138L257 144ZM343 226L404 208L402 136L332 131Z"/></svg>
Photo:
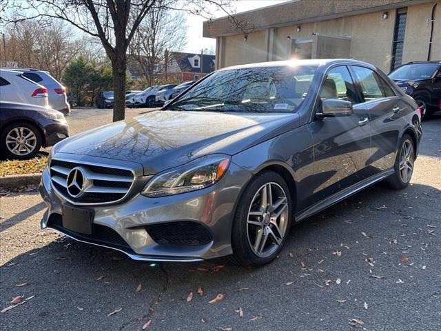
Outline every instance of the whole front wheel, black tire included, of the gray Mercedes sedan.
<svg viewBox="0 0 441 331"><path fill-rule="evenodd" d="M273 205L278 204L278 206L275 210L268 206L263 211L260 206L265 204L262 201L263 194L267 192L269 196L269 191ZM278 199L275 200L276 195ZM269 201L267 199L265 205ZM288 185L279 174L262 172L254 177L240 197L234 216L232 226L234 262L249 267L265 265L274 260L282 250L291 227L291 205Z"/></svg>

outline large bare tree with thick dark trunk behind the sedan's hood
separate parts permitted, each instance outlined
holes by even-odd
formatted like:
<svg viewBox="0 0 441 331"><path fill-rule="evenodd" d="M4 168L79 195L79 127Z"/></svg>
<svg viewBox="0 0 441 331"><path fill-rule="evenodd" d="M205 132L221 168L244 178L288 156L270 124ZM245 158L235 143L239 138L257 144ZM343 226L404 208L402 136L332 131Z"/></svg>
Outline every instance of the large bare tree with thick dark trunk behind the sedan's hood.
<svg viewBox="0 0 441 331"><path fill-rule="evenodd" d="M99 38L112 63L114 85L113 120L125 117L125 71L127 49L150 10L168 8L209 18L209 9L229 8L230 0L28 0L6 1L3 23L48 19L68 21L79 30Z"/></svg>

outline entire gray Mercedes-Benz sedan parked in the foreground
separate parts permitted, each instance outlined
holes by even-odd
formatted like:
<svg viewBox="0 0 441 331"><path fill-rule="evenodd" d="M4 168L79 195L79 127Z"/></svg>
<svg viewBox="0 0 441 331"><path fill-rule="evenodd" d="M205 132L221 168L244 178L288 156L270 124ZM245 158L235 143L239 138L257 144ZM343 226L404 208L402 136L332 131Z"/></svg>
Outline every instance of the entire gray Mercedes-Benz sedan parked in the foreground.
<svg viewBox="0 0 441 331"><path fill-rule="evenodd" d="M163 109L57 143L42 228L132 259L274 259L291 225L386 179L409 185L420 110L369 63L223 68Z"/></svg>

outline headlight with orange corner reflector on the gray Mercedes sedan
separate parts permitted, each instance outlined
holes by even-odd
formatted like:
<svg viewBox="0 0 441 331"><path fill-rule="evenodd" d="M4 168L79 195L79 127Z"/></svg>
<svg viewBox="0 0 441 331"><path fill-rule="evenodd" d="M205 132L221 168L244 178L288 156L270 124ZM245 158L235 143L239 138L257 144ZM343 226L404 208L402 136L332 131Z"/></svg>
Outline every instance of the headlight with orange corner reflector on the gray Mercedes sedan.
<svg viewBox="0 0 441 331"><path fill-rule="evenodd" d="M229 156L225 154L201 157L174 170L158 174L145 185L141 194L146 197L192 192L216 183L227 171Z"/></svg>

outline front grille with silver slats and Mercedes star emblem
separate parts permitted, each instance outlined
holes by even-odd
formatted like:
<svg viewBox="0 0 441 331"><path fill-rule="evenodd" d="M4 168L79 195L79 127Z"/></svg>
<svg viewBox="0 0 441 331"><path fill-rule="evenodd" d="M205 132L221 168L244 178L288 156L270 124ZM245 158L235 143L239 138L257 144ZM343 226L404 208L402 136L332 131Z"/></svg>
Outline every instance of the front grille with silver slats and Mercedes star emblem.
<svg viewBox="0 0 441 331"><path fill-rule="evenodd" d="M80 168L83 190L74 197L68 192L67 179L72 169ZM72 203L114 203L123 199L134 181L132 171L105 165L52 159L50 177L54 188ZM75 195L75 194L74 194Z"/></svg>

